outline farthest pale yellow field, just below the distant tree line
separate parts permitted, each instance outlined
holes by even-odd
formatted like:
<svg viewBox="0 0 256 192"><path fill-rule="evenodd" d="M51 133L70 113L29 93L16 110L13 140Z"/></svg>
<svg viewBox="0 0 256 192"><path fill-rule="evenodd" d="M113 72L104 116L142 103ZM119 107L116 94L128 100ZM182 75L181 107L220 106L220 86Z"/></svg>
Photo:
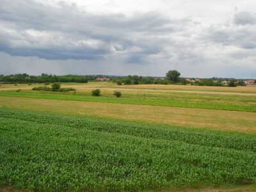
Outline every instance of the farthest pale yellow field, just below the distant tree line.
<svg viewBox="0 0 256 192"><path fill-rule="evenodd" d="M0 91L6 90L31 90L35 86L44 86L44 84L2 84ZM95 88L102 90L122 90L125 92L176 92L176 93L207 93L207 94L223 94L223 95L252 95L256 96L256 86L237 86L235 88L230 87L216 87L216 86L191 86L191 85L177 85L177 84L131 84L118 86L115 83L108 82L91 82L91 83L63 83L61 87L76 88L80 92L90 92Z"/></svg>

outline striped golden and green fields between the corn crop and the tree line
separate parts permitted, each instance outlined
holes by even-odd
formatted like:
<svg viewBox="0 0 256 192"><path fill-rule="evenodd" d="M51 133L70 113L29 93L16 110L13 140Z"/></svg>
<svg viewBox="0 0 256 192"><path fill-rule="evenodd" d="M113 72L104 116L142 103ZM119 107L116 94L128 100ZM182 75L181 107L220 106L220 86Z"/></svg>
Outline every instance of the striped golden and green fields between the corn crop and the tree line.
<svg viewBox="0 0 256 192"><path fill-rule="evenodd" d="M61 84L76 88L76 93L31 91L35 86L42 85L0 86L0 106L256 133L256 86ZM91 96L96 88L100 98ZM16 93L17 89L21 92ZM122 92L122 97L116 98L114 91Z"/></svg>

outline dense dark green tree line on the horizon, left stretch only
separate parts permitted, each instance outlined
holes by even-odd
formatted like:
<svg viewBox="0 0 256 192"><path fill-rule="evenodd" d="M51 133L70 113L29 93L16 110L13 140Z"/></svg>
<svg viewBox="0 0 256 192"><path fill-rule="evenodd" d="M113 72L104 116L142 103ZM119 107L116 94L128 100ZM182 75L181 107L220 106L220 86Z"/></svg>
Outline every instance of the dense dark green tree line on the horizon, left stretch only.
<svg viewBox="0 0 256 192"><path fill-rule="evenodd" d="M29 76L28 74L15 74L10 76L0 75L1 83L87 83L94 79L95 76L55 76L48 74L41 74L41 76Z"/></svg>

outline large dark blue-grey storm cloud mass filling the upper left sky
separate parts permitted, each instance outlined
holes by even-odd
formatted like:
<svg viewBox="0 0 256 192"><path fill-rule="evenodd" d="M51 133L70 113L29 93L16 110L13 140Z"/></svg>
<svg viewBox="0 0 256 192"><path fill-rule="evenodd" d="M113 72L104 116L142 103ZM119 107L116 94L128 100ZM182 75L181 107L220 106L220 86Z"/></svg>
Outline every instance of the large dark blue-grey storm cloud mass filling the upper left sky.
<svg viewBox="0 0 256 192"><path fill-rule="evenodd" d="M55 6L30 0L3 0L1 4L0 51L47 60L102 60L112 54L133 58L139 54L137 61L143 61L143 55L157 54L168 44L166 35L186 31L190 22L169 19L159 12L131 17L95 15L64 1Z"/></svg>

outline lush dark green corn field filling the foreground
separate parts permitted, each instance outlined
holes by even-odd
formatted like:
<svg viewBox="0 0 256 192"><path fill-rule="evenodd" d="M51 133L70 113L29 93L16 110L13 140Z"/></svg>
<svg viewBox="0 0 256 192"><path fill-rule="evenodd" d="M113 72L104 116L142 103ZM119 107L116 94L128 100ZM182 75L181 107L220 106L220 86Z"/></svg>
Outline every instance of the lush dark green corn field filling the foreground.
<svg viewBox="0 0 256 192"><path fill-rule="evenodd" d="M256 137L0 108L0 182L38 191L255 184Z"/></svg>

